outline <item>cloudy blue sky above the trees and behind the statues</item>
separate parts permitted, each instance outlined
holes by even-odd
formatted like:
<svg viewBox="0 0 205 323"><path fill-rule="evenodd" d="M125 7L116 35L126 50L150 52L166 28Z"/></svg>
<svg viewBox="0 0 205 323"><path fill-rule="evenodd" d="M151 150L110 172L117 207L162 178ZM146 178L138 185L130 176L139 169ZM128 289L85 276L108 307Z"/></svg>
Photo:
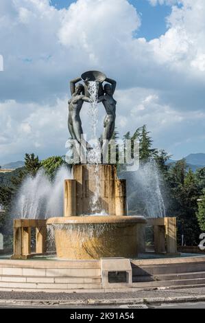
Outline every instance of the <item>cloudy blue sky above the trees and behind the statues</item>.
<svg viewBox="0 0 205 323"><path fill-rule="evenodd" d="M88 69L117 80L121 134L205 153L204 0L1 0L0 30L0 165L66 153L69 80Z"/></svg>

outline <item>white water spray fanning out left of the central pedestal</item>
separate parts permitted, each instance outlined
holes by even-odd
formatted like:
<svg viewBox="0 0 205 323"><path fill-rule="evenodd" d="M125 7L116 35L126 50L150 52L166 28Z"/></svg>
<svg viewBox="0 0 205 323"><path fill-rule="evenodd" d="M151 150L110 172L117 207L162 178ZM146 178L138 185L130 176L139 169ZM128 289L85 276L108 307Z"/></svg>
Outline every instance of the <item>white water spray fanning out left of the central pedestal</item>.
<svg viewBox="0 0 205 323"><path fill-rule="evenodd" d="M64 179L71 179L71 172L62 166L51 181L44 170L35 177L27 177L14 201L12 213L21 219L47 219L63 215Z"/></svg>

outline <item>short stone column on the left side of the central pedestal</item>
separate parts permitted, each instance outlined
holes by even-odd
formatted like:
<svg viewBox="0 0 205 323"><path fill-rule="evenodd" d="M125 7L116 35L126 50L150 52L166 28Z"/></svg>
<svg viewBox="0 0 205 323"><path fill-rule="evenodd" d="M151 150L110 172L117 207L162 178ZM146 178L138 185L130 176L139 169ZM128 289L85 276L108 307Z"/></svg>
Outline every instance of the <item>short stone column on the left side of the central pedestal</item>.
<svg viewBox="0 0 205 323"><path fill-rule="evenodd" d="M76 216L76 181L64 181L64 216Z"/></svg>

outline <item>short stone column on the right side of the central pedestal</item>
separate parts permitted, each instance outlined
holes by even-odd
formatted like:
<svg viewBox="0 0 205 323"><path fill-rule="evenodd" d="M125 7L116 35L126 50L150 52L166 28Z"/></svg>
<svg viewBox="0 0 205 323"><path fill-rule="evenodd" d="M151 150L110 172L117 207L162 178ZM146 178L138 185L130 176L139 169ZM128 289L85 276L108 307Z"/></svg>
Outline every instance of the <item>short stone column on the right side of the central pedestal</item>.
<svg viewBox="0 0 205 323"><path fill-rule="evenodd" d="M115 180L115 214L117 216L127 215L125 179Z"/></svg>

